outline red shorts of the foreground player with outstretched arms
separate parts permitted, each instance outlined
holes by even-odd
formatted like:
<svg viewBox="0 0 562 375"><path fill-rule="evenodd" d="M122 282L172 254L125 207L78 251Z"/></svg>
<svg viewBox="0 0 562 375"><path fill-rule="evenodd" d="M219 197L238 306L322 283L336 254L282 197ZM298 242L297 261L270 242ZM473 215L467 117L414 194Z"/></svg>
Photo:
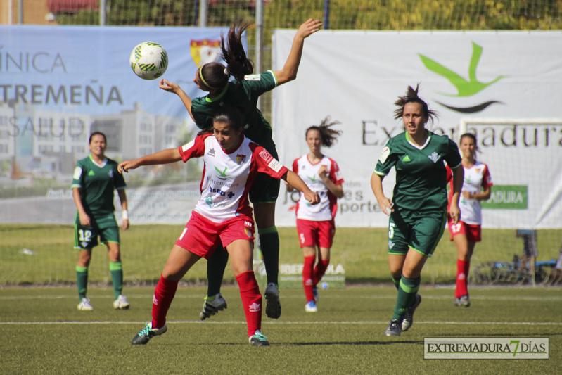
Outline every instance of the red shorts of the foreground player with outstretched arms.
<svg viewBox="0 0 562 375"><path fill-rule="evenodd" d="M254 233L254 221L248 216L241 215L216 223L193 211L176 245L209 259L221 242L225 248L235 240L246 240L253 244Z"/></svg>

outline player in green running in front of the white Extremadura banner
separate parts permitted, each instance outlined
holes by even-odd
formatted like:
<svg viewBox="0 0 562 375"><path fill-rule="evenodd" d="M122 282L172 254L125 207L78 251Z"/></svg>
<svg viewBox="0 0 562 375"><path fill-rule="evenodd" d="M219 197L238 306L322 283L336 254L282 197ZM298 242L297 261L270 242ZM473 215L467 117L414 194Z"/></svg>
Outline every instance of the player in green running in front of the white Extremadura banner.
<svg viewBox="0 0 562 375"><path fill-rule="evenodd" d="M392 137L383 148L371 187L381 211L388 220L388 264L398 290L394 314L386 336L400 336L414 322L421 303L417 293L426 260L433 254L447 220L447 170L453 172L453 195L449 213L454 224L460 220L459 196L464 179L459 148L447 136L430 132L435 112L408 87L406 96L395 104L395 119L402 118L404 132ZM394 167L396 184L392 199L383 192L383 178Z"/></svg>

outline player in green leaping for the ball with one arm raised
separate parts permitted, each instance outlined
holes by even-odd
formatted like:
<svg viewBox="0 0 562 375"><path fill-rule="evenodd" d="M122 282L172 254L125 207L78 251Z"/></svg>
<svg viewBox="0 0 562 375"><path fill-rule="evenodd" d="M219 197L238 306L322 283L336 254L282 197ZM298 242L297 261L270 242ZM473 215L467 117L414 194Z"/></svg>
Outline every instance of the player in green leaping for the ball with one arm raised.
<svg viewBox="0 0 562 375"><path fill-rule="evenodd" d="M322 23L312 18L300 25L293 39L289 56L283 69L268 70L260 75L252 75L253 63L248 59L242 44L242 34L248 24L234 24L230 27L228 44L221 36L222 57L226 61L225 67L221 63L207 63L200 67L193 79L197 87L209 94L204 97L191 98L177 85L167 80L160 80L159 87L165 91L177 94L186 106L189 114L200 129L212 126L215 111L222 106L235 106L245 117L245 136L263 146L274 158L278 158L272 127L257 109L257 99L260 95L275 87L295 80L297 77L302 48L305 38L317 32ZM230 77L234 80L229 81ZM275 202L279 195L279 180L272 179L267 174L258 175L250 191L250 201L255 210L255 222L260 235L264 265L267 272L267 300L266 314L278 319L281 316L281 302L279 300L279 234L275 227ZM228 262L228 254L222 250L215 251L214 256L207 263L207 297L203 303L200 319L204 320L219 310L226 308L226 301L220 295L220 286L224 275L224 268Z"/></svg>

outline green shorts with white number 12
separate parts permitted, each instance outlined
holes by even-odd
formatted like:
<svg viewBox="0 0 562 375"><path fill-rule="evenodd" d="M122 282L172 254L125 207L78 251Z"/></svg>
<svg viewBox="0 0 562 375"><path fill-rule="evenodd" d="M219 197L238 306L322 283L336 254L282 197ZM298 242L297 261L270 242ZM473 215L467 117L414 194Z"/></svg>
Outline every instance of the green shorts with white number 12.
<svg viewBox="0 0 562 375"><path fill-rule="evenodd" d="M99 243L115 242L119 243L119 227L115 221L115 215L111 212L108 215L93 217L90 215L91 227L84 227L80 224L78 213L74 224L74 248L79 250L91 250Z"/></svg>

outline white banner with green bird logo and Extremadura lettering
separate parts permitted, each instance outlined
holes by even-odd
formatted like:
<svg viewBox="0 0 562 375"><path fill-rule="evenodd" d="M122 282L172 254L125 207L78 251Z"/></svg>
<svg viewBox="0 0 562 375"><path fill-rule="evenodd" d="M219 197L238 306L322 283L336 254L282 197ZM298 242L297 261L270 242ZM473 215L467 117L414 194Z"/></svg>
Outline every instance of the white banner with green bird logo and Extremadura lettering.
<svg viewBox="0 0 562 375"><path fill-rule="evenodd" d="M275 30L274 70L294 30ZM308 152L305 129L327 115L343 130L324 148L340 165L345 197L336 224L386 227L370 186L376 160L403 131L394 102L409 85L439 119L431 129L458 141L478 136L478 160L497 189L483 205L485 228L562 227L562 32L320 31L307 38L298 78L274 90L272 124L281 162ZM523 120L522 120L523 119ZM483 121L485 120L485 121ZM394 174L384 189L392 196ZM295 225L282 189L277 224Z"/></svg>

